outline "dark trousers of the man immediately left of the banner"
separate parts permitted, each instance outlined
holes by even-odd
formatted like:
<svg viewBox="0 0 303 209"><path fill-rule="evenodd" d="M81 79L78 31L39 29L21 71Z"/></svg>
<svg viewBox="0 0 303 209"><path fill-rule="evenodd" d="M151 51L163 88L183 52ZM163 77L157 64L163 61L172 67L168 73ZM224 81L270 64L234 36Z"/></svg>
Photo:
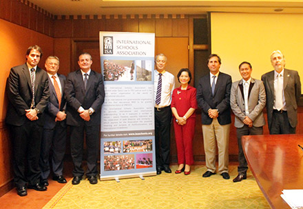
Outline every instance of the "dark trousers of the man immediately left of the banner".
<svg viewBox="0 0 303 209"><path fill-rule="evenodd" d="M97 160L99 150L99 126L70 126L70 150L72 154L72 161L74 163L74 170L72 174L74 177L82 177L84 170L82 168L83 160L83 143L84 132L87 150L87 171L86 176L96 176Z"/></svg>

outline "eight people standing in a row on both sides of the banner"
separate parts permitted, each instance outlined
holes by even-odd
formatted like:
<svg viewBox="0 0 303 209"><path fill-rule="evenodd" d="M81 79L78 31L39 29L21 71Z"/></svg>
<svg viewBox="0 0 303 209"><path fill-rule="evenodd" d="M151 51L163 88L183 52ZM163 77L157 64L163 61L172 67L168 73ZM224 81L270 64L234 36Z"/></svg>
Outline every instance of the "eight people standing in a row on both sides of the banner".
<svg viewBox="0 0 303 209"><path fill-rule="evenodd" d="M39 46L30 46L26 63L11 68L6 90L8 112L6 123L12 135L14 183L17 194L25 196L27 189L47 190L48 177L66 183L63 177L66 126L70 126L71 155L74 163L72 184L79 184L86 175L90 183L98 182L97 160L101 106L105 99L102 74L91 69L92 56L80 54L80 69L70 72L67 78L58 73L59 58L50 56L45 70L37 65L42 57ZM297 71L284 68L285 59L279 50L271 54L273 71L262 76L262 81L251 77L249 62L240 63L240 81L231 82L231 76L220 72L221 59L209 55L209 74L200 78L198 88L189 86L191 72L182 68L178 72L180 87L175 89L174 75L167 72L167 57L155 57L154 74L156 172L160 175L169 168L170 127L174 123L178 152L176 174L191 173L194 164L192 141L194 139L196 109L202 115L202 133L207 171L202 177L216 174L216 145L218 146L218 172L229 179L229 129L231 110L235 114L239 163L234 182L247 178L241 137L262 135L265 121L263 108L271 134L295 133L297 103L301 95ZM87 170L83 170L84 136L87 149ZM52 168L50 168L52 152Z"/></svg>

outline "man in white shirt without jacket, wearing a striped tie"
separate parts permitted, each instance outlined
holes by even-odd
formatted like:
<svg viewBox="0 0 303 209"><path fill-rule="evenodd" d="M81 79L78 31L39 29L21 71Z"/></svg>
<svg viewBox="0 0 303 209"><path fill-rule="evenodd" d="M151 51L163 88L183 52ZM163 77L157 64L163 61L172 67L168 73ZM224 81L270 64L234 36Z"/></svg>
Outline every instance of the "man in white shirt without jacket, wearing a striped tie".
<svg viewBox="0 0 303 209"><path fill-rule="evenodd" d="M171 127L171 94L175 88L175 77L165 70L167 57L158 54L155 57L154 75L155 94L155 137L156 137L156 170L171 173L169 168L170 127Z"/></svg>

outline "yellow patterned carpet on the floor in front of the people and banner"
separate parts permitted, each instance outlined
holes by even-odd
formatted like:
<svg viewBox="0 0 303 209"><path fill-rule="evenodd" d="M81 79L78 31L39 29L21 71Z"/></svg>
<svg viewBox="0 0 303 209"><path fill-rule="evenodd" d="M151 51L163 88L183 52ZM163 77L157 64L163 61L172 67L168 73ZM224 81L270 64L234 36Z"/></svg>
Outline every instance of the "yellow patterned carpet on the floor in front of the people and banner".
<svg viewBox="0 0 303 209"><path fill-rule="evenodd" d="M79 185L69 181L43 209L56 208L270 208L251 172L238 183L237 166L229 167L231 179L220 175L202 178L205 166L194 166L191 174L173 173L154 177L99 181Z"/></svg>

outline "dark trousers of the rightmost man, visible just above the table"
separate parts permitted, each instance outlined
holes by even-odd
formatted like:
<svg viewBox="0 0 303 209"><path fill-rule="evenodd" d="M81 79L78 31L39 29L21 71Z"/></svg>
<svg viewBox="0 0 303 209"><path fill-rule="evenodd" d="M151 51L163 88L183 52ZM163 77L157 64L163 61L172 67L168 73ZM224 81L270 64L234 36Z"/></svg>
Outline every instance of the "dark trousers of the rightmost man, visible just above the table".
<svg viewBox="0 0 303 209"><path fill-rule="evenodd" d="M295 127L296 128L296 127ZM273 110L273 120L269 133L271 135L295 134L295 128L291 127L287 111Z"/></svg>

